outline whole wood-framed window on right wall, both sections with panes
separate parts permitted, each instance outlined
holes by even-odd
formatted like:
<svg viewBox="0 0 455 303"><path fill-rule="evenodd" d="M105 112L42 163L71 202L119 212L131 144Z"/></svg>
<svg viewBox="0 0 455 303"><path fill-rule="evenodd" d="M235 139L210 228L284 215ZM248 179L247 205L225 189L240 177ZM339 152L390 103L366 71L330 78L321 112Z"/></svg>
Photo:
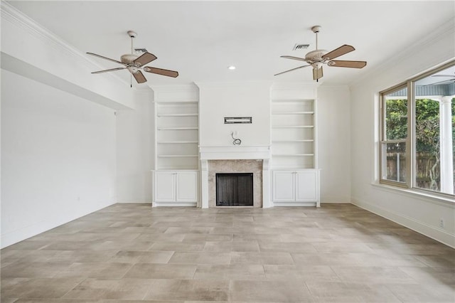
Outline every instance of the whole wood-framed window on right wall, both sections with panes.
<svg viewBox="0 0 455 303"><path fill-rule="evenodd" d="M454 195L455 63L380 95L380 183Z"/></svg>

